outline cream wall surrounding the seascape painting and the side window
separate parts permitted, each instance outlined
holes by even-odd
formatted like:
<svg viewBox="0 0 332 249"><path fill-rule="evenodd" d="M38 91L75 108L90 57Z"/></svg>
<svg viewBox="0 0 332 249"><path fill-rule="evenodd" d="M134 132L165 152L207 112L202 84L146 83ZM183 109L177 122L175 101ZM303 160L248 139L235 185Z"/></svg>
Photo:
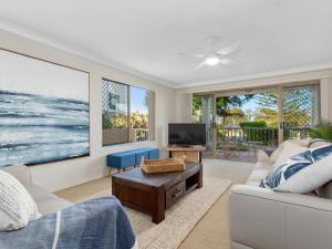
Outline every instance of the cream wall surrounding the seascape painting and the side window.
<svg viewBox="0 0 332 249"><path fill-rule="evenodd" d="M90 72L91 156L31 166L33 180L38 185L52 191L75 186L100 178L105 174L106 154L142 146L165 147L167 124L174 121L175 91L173 89L1 30L0 48ZM154 142L102 147L102 77L155 91L156 139ZM162 155L165 156L166 152L163 152Z"/></svg>

